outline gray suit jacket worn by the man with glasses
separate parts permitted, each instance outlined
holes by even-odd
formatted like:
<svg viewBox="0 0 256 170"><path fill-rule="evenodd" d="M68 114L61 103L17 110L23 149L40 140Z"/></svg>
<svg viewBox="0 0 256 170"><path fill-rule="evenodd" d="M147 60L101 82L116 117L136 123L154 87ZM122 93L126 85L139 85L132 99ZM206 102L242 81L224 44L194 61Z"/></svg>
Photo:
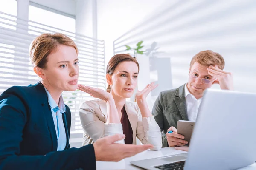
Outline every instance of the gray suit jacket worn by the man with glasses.
<svg viewBox="0 0 256 170"><path fill-rule="evenodd" d="M169 147L167 130L171 126L177 128L178 120L188 120L184 87L160 92L154 103L152 114L162 132L162 147Z"/></svg>

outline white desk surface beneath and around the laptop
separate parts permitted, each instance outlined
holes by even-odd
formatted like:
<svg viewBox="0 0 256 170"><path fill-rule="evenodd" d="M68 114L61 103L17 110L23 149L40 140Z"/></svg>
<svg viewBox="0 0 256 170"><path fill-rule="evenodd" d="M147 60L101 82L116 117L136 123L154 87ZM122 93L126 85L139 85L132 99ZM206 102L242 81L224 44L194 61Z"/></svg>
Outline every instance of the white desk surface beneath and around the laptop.
<svg viewBox="0 0 256 170"><path fill-rule="evenodd" d="M142 159L168 156L168 155L174 155L179 153L186 153L186 152L175 150L174 147L165 147L158 151L146 150L142 153L138 153L135 156L123 159L122 161L119 161L119 162L96 161L96 169L97 170L143 170L142 168L139 168L130 164L130 161L138 161ZM256 170L256 163L248 167L241 168L239 170Z"/></svg>

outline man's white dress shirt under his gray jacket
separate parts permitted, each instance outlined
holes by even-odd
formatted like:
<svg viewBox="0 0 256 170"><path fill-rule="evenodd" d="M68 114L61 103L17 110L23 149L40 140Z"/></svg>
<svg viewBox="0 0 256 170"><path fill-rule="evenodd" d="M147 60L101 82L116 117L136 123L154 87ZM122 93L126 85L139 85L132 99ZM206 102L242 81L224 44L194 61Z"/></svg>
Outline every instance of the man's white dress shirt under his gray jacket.
<svg viewBox="0 0 256 170"><path fill-rule="evenodd" d="M202 98L196 99L194 95L189 92L187 83L185 85L185 99L189 121L195 122L198 115L198 108L202 102Z"/></svg>

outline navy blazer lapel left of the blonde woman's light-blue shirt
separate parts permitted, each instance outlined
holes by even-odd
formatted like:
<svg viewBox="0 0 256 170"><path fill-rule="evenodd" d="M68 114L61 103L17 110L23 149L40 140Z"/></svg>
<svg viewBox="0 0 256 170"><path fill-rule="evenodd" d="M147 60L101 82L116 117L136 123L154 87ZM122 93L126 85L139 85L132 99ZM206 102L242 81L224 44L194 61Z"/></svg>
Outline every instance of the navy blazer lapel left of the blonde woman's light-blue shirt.
<svg viewBox="0 0 256 170"><path fill-rule="evenodd" d="M57 135L56 135L55 125L52 118L52 111L51 111L50 105L48 104L47 94L41 82L38 82L34 86L35 88L38 89L38 99L41 99L42 111L44 113L45 119L47 121L48 129L51 135L52 151L56 151L57 145L58 145Z"/></svg>

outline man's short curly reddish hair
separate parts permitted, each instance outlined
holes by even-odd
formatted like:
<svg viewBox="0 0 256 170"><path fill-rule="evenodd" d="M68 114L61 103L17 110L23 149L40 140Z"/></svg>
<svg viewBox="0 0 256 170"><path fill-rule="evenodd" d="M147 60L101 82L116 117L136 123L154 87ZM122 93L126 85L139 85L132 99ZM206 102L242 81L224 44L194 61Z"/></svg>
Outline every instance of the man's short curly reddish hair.
<svg viewBox="0 0 256 170"><path fill-rule="evenodd" d="M223 57L220 54L215 53L211 50L200 51L198 54L195 54L190 62L190 67L195 62L198 62L199 64L207 67L209 67L210 65L217 65L218 68L220 68L221 70L223 70L225 66L225 61Z"/></svg>

